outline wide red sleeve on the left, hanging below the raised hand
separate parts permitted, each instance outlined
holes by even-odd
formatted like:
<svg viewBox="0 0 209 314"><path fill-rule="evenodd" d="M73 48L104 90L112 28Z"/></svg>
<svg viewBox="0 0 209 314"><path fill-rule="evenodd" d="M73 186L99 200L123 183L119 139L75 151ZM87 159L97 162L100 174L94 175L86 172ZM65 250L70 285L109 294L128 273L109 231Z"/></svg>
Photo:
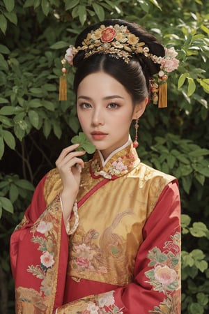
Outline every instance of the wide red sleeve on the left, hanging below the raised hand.
<svg viewBox="0 0 209 314"><path fill-rule="evenodd" d="M22 223L10 239L17 313L52 313L63 302L68 235L59 195L46 206L45 179L36 187Z"/></svg>

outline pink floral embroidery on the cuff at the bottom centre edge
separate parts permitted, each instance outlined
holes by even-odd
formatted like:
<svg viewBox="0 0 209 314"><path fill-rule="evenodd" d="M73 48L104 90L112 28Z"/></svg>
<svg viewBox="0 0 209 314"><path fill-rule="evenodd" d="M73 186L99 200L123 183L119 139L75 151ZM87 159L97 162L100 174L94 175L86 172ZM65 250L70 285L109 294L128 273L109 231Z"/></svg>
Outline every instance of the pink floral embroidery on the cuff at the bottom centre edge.
<svg viewBox="0 0 209 314"><path fill-rule="evenodd" d="M90 301L82 314L123 314L122 308L115 305L114 291L95 296L95 302Z"/></svg>

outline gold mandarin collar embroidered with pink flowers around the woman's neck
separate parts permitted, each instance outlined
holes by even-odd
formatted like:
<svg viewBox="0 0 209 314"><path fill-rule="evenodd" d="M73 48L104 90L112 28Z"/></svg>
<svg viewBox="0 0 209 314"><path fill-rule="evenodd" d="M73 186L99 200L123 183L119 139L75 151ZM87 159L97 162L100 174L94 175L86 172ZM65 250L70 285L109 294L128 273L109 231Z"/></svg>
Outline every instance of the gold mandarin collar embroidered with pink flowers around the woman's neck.
<svg viewBox="0 0 209 314"><path fill-rule="evenodd" d="M113 151L105 161L100 151L95 151L91 160L90 172L93 178L104 177L114 180L132 171L139 163L137 151L134 149L132 141L128 140L123 147Z"/></svg>

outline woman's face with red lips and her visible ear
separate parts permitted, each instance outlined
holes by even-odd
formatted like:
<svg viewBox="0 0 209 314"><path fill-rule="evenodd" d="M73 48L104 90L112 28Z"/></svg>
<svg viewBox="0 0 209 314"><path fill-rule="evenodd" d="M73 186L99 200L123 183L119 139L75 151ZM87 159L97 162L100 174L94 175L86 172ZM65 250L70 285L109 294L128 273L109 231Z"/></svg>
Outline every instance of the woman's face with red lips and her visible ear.
<svg viewBox="0 0 209 314"><path fill-rule="evenodd" d="M104 72L87 75L77 90L82 130L104 159L127 142L132 119L139 118L145 107L146 100L133 107L125 87Z"/></svg>

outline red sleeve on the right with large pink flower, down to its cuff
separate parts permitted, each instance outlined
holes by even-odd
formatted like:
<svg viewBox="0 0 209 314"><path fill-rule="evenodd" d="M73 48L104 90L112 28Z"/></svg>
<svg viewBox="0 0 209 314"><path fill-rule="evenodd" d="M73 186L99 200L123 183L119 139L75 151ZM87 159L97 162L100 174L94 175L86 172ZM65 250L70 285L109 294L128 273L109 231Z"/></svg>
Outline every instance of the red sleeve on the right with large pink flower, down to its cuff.
<svg viewBox="0 0 209 314"><path fill-rule="evenodd" d="M72 301L57 313L180 314L180 197L176 180L162 191L143 234L133 283Z"/></svg>

